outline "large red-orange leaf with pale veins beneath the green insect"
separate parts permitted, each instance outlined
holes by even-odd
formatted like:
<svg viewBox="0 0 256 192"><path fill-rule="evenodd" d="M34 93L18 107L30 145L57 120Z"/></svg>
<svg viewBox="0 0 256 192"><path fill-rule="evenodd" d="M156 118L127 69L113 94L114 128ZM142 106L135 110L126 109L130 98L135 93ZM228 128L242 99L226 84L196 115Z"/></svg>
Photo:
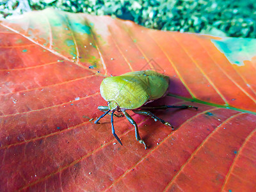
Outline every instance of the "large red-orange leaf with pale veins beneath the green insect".
<svg viewBox="0 0 256 192"><path fill-rule="evenodd" d="M255 40L145 29L44 10L0 23L0 191L255 191ZM170 76L157 104L191 104L89 121L104 77ZM117 144L116 144L117 143ZM115 145L116 144L116 145Z"/></svg>

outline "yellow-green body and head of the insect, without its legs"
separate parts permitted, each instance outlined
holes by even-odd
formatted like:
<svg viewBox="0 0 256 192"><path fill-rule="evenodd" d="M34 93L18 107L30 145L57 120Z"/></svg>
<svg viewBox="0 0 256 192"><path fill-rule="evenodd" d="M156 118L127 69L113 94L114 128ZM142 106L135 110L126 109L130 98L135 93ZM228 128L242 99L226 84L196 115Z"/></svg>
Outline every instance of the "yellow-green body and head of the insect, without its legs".
<svg viewBox="0 0 256 192"><path fill-rule="evenodd" d="M152 70L142 70L107 77L100 84L100 94L108 102L115 101L120 109L136 109L150 100L163 97L168 85L169 77ZM109 109L116 107L115 102L109 104Z"/></svg>

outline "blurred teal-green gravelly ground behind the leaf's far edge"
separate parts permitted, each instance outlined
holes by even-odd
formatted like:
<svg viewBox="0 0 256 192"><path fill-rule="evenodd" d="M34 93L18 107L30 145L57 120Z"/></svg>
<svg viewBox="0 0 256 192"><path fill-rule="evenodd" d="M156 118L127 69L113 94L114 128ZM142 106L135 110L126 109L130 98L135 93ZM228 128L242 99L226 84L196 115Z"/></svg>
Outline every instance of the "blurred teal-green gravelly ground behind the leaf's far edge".
<svg viewBox="0 0 256 192"><path fill-rule="evenodd" d="M256 38L255 0L0 0L0 19L48 7L111 15L153 29Z"/></svg>

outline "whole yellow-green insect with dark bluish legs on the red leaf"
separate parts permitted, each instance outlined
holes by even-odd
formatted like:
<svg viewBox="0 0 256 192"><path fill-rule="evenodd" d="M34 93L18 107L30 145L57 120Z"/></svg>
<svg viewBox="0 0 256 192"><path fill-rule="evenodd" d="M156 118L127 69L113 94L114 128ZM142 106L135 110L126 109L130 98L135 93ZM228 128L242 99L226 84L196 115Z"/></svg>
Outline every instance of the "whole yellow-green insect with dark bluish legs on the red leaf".
<svg viewBox="0 0 256 192"><path fill-rule="evenodd" d="M169 77L159 74L152 70L142 70L136 72L128 72L121 76L107 77L100 84L100 94L108 102L108 106L99 106L100 111L105 112L97 120L95 124L99 124L100 118L103 118L111 111L111 127L112 133L116 140L122 145L122 142L115 133L113 116L115 111L124 113L124 116L135 127L136 140L147 148L146 143L141 140L138 131L138 125L127 113L127 110L132 110L140 115L151 116L154 120L159 120L164 125L173 126L165 122L163 119L151 113L150 109L167 109L167 108L195 108L194 106L158 106L145 107L144 105L153 100L159 99L166 94L169 86ZM115 115L117 116L117 115Z"/></svg>

